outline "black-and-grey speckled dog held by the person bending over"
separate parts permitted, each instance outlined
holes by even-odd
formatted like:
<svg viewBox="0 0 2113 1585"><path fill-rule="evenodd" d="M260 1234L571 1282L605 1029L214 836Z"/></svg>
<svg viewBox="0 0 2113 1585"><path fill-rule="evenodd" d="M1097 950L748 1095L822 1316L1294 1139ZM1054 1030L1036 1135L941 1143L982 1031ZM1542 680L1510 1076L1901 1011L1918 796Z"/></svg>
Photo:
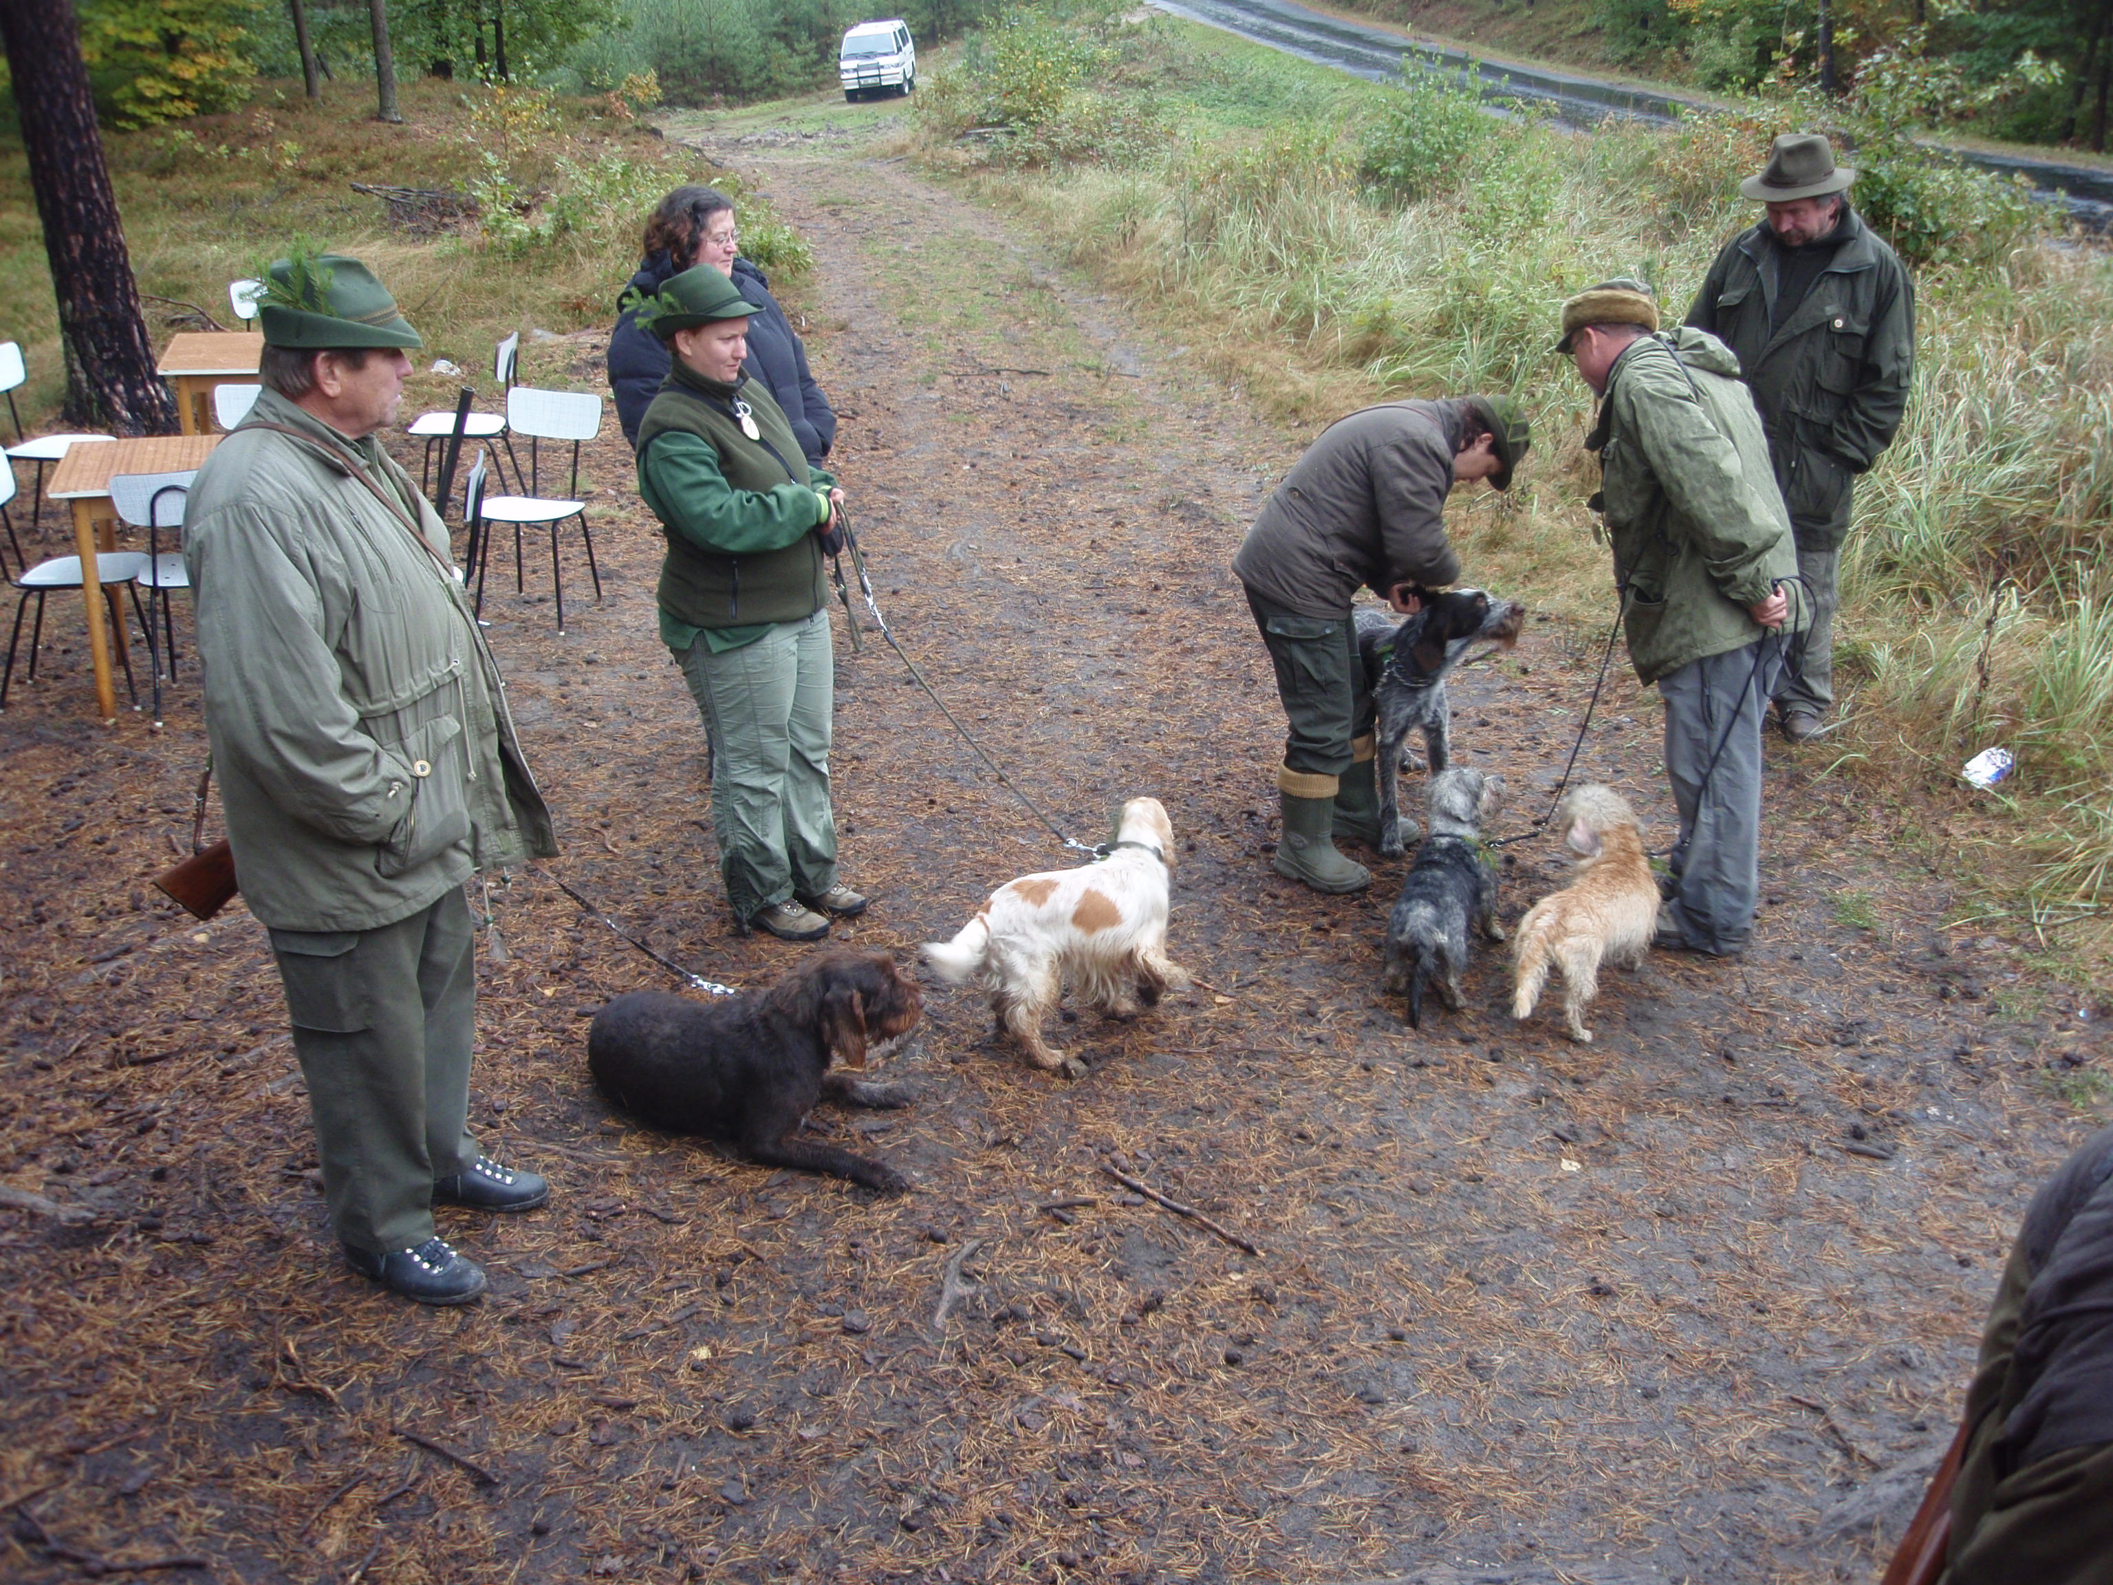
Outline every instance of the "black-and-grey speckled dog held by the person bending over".
<svg viewBox="0 0 2113 1585"><path fill-rule="evenodd" d="M1526 619L1523 604L1485 590L1418 590L1418 596L1424 609L1399 626L1380 611L1357 611L1357 653L1373 695L1384 858L1401 858L1418 835L1416 822L1401 818L1401 744L1409 727L1422 727L1426 765L1439 776L1452 763L1447 672L1481 640L1511 649Z"/></svg>

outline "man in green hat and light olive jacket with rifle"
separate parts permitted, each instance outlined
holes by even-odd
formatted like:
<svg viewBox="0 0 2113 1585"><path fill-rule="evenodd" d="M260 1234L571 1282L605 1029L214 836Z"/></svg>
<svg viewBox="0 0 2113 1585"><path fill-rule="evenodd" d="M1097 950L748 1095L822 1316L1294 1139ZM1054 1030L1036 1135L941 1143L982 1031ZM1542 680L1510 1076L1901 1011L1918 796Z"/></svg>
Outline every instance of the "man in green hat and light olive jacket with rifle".
<svg viewBox="0 0 2113 1585"><path fill-rule="evenodd" d="M353 258L270 266L264 391L184 514L235 873L270 932L347 1262L423 1304L484 1272L433 1202L526 1211L467 1126L463 883L556 852L448 530L378 431L418 332Z"/></svg>

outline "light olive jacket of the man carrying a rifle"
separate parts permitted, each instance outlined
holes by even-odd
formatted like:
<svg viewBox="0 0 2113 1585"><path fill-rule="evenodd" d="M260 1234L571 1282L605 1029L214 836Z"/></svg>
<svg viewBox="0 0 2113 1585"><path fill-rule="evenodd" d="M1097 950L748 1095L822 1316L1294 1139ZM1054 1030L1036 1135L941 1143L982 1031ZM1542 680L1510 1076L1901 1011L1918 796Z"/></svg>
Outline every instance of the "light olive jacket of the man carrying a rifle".
<svg viewBox="0 0 2113 1585"><path fill-rule="evenodd" d="M266 928L374 930L558 852L448 530L380 442L264 391L199 469L184 562L235 875Z"/></svg>

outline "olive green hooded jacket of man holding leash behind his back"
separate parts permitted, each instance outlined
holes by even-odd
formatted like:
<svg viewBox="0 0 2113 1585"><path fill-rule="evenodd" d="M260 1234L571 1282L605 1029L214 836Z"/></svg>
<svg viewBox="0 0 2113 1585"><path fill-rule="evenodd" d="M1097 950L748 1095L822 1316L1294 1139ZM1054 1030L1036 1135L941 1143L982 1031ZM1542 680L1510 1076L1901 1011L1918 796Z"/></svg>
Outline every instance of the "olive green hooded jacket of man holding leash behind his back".
<svg viewBox="0 0 2113 1585"><path fill-rule="evenodd" d="M1638 678L1657 683L1760 638L1747 607L1796 577L1798 554L1754 397L1724 342L1699 330L1629 342L1585 446L1600 452ZM1805 626L1796 598L1792 613Z"/></svg>

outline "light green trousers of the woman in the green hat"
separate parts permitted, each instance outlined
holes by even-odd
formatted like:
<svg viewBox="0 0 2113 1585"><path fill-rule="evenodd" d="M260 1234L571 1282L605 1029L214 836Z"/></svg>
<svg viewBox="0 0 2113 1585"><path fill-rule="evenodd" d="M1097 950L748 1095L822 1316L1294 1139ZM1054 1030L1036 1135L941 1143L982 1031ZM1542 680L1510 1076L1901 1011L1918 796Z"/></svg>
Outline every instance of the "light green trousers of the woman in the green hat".
<svg viewBox="0 0 2113 1585"><path fill-rule="evenodd" d="M716 750L712 835L733 913L822 896L837 883L828 609L718 655L699 638L676 659Z"/></svg>

